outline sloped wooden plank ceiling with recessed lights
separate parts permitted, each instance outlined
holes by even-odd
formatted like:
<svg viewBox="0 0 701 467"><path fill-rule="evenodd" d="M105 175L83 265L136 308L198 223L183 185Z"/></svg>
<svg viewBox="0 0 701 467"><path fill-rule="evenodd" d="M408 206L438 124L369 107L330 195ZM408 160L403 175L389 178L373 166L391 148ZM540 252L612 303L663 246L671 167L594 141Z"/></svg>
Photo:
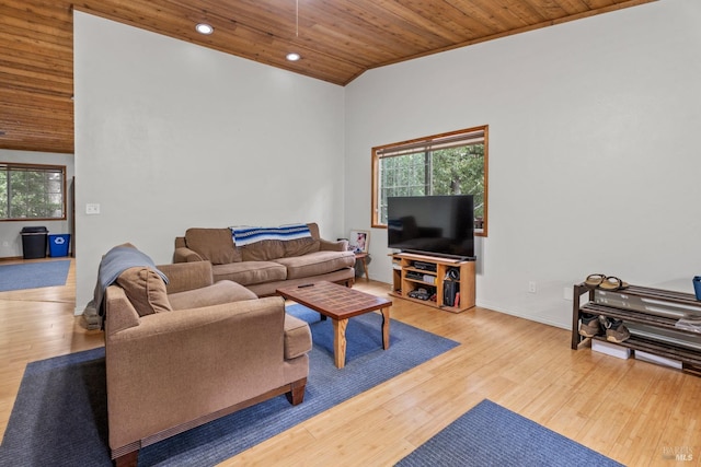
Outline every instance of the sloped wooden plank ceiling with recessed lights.
<svg viewBox="0 0 701 467"><path fill-rule="evenodd" d="M371 68L648 1L2 0L0 149L73 152L73 9L345 85ZM215 33L196 33L199 22Z"/></svg>

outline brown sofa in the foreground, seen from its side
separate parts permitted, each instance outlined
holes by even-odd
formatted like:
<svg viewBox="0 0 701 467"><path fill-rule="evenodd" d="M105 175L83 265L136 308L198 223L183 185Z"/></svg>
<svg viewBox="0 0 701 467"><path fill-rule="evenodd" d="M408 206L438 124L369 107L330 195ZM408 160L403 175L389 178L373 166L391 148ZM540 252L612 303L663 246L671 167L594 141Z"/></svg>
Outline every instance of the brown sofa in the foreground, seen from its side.
<svg viewBox="0 0 701 467"><path fill-rule="evenodd" d="M214 281L209 261L133 267L105 291L110 447L142 446L286 394L304 397L311 334L281 297Z"/></svg>

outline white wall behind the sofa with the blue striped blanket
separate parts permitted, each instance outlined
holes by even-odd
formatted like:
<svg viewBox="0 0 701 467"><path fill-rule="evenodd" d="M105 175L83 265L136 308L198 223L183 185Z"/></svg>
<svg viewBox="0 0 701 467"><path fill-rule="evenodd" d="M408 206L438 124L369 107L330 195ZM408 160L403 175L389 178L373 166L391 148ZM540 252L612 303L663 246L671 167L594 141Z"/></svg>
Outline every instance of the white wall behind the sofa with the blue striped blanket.
<svg viewBox="0 0 701 467"><path fill-rule="evenodd" d="M74 91L77 310L124 242L160 264L191 226L343 234L343 87L77 11Z"/></svg>

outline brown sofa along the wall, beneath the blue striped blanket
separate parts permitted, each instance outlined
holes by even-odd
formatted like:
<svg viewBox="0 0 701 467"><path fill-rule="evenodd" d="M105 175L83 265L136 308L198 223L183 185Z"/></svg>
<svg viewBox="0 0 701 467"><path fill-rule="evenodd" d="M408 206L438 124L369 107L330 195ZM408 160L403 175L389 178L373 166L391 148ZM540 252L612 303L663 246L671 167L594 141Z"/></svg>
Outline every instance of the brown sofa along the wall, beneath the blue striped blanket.
<svg viewBox="0 0 701 467"><path fill-rule="evenodd" d="M307 225L311 237L245 246L234 245L230 229L188 229L175 238L173 261L209 260L215 281L231 280L258 296L273 295L283 285L321 280L352 287L355 255L347 250L347 241L325 241L315 223Z"/></svg>

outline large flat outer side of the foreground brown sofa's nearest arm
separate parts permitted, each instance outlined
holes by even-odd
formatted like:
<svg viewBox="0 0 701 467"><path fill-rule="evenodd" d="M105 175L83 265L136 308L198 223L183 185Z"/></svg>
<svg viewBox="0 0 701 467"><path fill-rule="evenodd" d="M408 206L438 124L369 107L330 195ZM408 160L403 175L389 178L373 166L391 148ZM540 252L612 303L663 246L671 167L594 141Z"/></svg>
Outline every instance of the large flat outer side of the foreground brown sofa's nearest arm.
<svg viewBox="0 0 701 467"><path fill-rule="evenodd" d="M284 322L273 296L148 315L106 335L112 448L285 384Z"/></svg>

